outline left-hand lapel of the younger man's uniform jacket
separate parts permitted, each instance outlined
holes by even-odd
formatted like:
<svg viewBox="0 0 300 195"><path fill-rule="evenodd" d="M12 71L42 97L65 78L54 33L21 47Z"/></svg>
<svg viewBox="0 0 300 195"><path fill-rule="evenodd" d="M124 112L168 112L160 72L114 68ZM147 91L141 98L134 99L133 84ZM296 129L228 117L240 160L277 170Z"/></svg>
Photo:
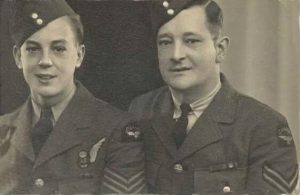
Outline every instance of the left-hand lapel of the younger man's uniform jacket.
<svg viewBox="0 0 300 195"><path fill-rule="evenodd" d="M10 126L15 127L15 135L12 138L12 145L23 153L31 161L34 161L34 152L31 144L31 102L30 98L20 107L13 116Z"/></svg>

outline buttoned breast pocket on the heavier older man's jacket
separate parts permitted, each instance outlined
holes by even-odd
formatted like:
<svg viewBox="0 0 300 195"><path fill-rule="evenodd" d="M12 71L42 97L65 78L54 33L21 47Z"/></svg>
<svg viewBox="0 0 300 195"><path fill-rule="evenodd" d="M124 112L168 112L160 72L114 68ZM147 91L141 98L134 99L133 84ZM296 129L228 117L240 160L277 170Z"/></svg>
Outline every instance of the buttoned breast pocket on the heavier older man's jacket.
<svg viewBox="0 0 300 195"><path fill-rule="evenodd" d="M247 168L218 171L199 169L194 173L194 186L196 192L241 192L246 186L246 177Z"/></svg>

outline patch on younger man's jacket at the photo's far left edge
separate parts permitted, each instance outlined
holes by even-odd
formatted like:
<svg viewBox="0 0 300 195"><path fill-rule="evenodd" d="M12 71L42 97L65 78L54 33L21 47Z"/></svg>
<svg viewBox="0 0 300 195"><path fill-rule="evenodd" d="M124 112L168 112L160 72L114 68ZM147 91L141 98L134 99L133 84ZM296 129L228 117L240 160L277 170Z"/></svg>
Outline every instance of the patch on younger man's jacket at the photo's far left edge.
<svg viewBox="0 0 300 195"><path fill-rule="evenodd" d="M3 126L0 128L0 156L4 155L8 151L15 129L15 127L9 126Z"/></svg>

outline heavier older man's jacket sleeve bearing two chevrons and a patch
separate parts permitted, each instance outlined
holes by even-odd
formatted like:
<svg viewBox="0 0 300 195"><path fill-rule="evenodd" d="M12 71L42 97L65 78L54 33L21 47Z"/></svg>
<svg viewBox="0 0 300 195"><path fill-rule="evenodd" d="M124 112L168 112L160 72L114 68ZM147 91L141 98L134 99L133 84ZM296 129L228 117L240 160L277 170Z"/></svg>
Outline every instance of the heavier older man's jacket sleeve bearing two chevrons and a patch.
<svg viewBox="0 0 300 195"><path fill-rule="evenodd" d="M250 146L247 191L290 194L298 180L296 148L282 116L255 126Z"/></svg>

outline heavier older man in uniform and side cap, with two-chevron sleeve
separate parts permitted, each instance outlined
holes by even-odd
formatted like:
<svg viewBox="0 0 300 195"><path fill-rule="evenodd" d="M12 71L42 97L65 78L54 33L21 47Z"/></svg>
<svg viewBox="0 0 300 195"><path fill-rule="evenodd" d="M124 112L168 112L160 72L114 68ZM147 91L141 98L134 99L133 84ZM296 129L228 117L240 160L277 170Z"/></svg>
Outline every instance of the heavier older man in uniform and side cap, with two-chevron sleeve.
<svg viewBox="0 0 300 195"><path fill-rule="evenodd" d="M298 166L285 118L235 91L220 73L229 43L220 7L158 0L151 10L168 86L136 98L130 111L145 120L152 192L291 193Z"/></svg>

